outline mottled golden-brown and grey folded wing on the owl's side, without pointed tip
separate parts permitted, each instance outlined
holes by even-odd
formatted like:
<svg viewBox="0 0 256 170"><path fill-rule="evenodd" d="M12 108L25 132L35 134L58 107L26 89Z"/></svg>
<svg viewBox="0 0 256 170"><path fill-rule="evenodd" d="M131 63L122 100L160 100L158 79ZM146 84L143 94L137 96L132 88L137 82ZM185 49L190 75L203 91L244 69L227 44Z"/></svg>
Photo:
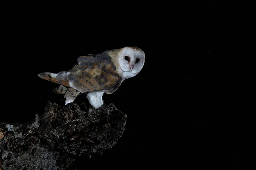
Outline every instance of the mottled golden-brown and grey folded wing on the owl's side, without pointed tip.
<svg viewBox="0 0 256 170"><path fill-rule="evenodd" d="M70 87L81 93L105 91L111 94L122 82L111 57L106 53L79 57L77 65L69 73Z"/></svg>

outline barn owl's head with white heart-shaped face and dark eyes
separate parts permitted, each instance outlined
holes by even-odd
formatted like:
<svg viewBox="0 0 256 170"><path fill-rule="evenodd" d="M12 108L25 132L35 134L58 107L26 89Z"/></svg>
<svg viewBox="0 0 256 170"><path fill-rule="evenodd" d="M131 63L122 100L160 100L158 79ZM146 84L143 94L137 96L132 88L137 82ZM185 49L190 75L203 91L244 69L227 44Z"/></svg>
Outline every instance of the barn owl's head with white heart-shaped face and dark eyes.
<svg viewBox="0 0 256 170"><path fill-rule="evenodd" d="M143 68L145 53L137 47L125 47L119 51L119 65L122 71L137 74Z"/></svg>

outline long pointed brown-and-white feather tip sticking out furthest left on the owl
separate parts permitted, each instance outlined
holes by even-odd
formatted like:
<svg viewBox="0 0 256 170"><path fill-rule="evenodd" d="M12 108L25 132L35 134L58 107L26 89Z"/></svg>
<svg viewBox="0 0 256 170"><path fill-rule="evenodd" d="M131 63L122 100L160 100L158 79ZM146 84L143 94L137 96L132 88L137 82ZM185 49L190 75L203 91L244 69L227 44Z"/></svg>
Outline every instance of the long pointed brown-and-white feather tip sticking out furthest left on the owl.
<svg viewBox="0 0 256 170"><path fill-rule="evenodd" d="M55 83L67 86L67 87L70 87L69 80L68 80L69 74L70 74L70 72L67 72L67 71L61 71L58 74L45 72L45 73L38 74L38 77L40 77L42 79L46 79L51 82L55 82Z"/></svg>

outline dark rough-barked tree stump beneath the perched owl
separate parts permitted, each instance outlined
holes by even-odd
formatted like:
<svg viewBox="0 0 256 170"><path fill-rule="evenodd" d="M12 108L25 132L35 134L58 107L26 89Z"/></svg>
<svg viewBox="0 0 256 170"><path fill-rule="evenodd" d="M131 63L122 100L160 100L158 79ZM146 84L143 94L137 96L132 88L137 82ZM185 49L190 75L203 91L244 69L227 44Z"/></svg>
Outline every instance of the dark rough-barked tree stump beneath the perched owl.
<svg viewBox="0 0 256 170"><path fill-rule="evenodd" d="M0 123L0 170L64 170L76 156L113 147L125 124L114 105L95 110L48 102L33 122Z"/></svg>

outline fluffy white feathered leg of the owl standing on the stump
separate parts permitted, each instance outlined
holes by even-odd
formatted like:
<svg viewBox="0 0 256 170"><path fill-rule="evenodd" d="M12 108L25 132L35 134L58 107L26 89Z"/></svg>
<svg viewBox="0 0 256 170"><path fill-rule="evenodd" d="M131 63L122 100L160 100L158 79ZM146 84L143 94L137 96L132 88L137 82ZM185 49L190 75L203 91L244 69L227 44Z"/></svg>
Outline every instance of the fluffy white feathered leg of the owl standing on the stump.
<svg viewBox="0 0 256 170"><path fill-rule="evenodd" d="M93 108L96 109L103 105L102 96L104 93L104 91L93 91L87 94L87 99L89 100Z"/></svg>

